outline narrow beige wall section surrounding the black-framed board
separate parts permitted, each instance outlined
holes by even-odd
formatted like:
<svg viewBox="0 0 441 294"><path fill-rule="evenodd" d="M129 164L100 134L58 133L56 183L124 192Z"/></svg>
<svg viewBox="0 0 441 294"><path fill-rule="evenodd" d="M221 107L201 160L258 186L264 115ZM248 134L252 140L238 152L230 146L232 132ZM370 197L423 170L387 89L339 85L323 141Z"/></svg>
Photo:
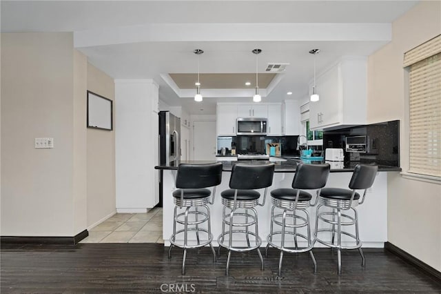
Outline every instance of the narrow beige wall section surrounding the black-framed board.
<svg viewBox="0 0 441 294"><path fill-rule="evenodd" d="M88 90L114 100L112 77L88 65ZM113 104L115 107L115 104ZM115 112L113 112L115 113ZM115 127L115 119L113 120ZM88 129L88 228L116 213L115 131Z"/></svg>

